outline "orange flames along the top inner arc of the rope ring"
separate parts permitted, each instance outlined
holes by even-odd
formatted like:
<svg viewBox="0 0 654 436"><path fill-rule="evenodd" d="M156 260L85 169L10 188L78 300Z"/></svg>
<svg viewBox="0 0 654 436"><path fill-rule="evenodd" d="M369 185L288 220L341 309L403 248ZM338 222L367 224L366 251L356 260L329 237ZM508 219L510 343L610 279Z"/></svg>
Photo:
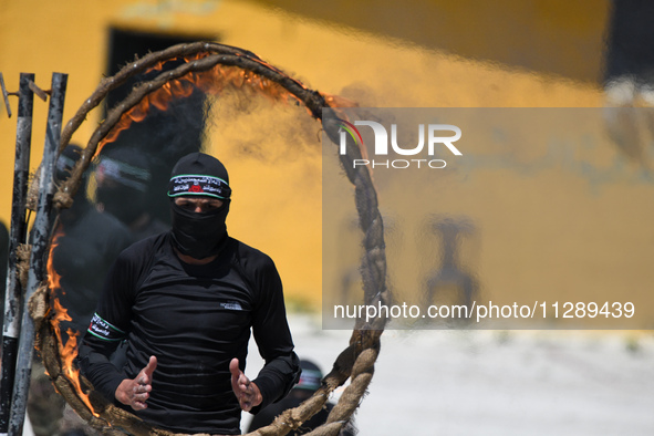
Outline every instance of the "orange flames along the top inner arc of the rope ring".
<svg viewBox="0 0 654 436"><path fill-rule="evenodd" d="M207 55L209 55L209 53L197 53L181 60L185 62L193 62ZM150 68L148 72L162 70L165 62L159 62L155 66ZM274 71L279 71L264 62L262 62L262 64ZM121 132L129 128L132 123L138 123L143 121L150 111L152 106L160 111L166 111L173 100L188 97L195 89L198 89L209 95L218 95L226 89L249 90L256 94L269 97L272 101L299 102L298 97L276 82L262 77L251 71L242 70L238 66L226 66L218 64L208 71L190 72L183 77L172 80L158 90L144 96L136 106L126 111L121 116L121 120L116 123L116 125L107 133L104 139L100 142L94 157L100 155L102 148L106 144L115 142Z"/></svg>

